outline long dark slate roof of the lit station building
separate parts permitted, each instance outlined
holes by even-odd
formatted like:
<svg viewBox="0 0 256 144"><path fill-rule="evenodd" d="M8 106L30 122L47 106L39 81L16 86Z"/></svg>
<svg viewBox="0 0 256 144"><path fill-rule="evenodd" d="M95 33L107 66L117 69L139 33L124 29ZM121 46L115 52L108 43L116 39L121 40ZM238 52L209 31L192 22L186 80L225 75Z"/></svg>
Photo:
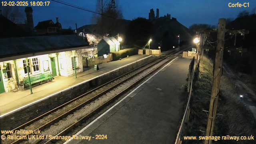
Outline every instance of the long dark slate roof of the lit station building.
<svg viewBox="0 0 256 144"><path fill-rule="evenodd" d="M76 35L30 36L0 39L0 58L88 46Z"/></svg>

